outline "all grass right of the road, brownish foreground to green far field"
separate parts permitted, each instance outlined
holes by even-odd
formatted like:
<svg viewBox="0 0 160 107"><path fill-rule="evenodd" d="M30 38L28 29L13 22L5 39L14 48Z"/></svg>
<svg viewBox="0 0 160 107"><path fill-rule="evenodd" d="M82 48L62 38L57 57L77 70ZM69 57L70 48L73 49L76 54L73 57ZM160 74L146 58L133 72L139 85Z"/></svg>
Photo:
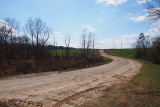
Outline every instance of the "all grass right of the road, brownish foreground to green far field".
<svg viewBox="0 0 160 107"><path fill-rule="evenodd" d="M120 50L109 50L121 56ZM135 49L123 49L123 57L134 56ZM130 57L135 59L134 57ZM160 105L160 65L135 59L143 64L141 72L132 80L115 86L102 97L89 101L81 107L159 107ZM136 92L136 93L134 93ZM145 93L145 94L142 94Z"/></svg>

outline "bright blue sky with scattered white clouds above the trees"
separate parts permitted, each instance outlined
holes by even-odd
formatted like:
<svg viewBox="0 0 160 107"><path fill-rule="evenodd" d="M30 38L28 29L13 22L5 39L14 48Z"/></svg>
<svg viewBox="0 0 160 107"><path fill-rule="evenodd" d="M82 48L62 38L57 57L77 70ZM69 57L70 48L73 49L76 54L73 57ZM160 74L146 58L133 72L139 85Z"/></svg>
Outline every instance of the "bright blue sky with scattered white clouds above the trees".
<svg viewBox="0 0 160 107"><path fill-rule="evenodd" d="M41 18L57 45L64 46L64 36L71 35L70 46L76 48L84 30L95 34L95 48L121 48L121 43L132 48L140 33L157 32L146 13L146 0L0 0L0 20L15 18L23 28L30 17Z"/></svg>

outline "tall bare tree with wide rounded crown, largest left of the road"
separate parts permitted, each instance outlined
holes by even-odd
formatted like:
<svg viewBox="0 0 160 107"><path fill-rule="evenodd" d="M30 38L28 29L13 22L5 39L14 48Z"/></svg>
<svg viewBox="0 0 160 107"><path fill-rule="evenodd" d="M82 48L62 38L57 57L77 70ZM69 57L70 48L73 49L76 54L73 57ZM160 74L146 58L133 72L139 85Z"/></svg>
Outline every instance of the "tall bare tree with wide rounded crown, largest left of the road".
<svg viewBox="0 0 160 107"><path fill-rule="evenodd" d="M32 46L35 45L34 56L38 72L38 61L44 54L44 46L51 35L51 29L40 18L29 18L25 27L28 32L27 34L31 37Z"/></svg>

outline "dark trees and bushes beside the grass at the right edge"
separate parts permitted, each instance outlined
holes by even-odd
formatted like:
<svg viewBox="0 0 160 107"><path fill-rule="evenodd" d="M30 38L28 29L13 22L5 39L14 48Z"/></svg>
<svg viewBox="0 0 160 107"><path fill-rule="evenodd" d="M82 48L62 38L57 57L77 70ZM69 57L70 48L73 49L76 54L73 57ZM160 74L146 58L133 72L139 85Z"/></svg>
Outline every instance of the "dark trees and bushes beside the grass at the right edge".
<svg viewBox="0 0 160 107"><path fill-rule="evenodd" d="M145 36L141 33L133 46L136 48L136 58L160 64L160 37Z"/></svg>

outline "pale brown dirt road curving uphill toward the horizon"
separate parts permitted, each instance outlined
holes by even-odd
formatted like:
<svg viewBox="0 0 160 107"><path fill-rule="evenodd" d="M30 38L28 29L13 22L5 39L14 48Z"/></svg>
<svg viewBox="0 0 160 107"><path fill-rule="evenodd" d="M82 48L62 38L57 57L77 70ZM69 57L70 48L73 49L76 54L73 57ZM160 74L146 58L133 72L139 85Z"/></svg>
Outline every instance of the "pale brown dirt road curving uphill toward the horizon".
<svg viewBox="0 0 160 107"><path fill-rule="evenodd" d="M71 72L48 72L0 79L0 101L19 106L74 107L96 98L139 72L141 63L111 56L109 64Z"/></svg>

